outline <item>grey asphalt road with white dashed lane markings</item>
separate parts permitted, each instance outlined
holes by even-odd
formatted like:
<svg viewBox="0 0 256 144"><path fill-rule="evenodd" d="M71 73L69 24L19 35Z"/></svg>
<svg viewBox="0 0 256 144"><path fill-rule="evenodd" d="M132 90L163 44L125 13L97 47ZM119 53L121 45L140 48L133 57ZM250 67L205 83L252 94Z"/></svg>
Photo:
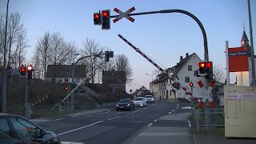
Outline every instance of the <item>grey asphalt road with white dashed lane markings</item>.
<svg viewBox="0 0 256 144"><path fill-rule="evenodd" d="M145 126L156 123L159 117L174 114L174 107L174 103L154 102L148 103L146 107L136 107L135 110L116 111L113 108L98 114L66 115L38 125L54 131L62 142L121 144ZM178 113L188 112L181 107L180 104ZM156 124L164 125L160 121Z"/></svg>

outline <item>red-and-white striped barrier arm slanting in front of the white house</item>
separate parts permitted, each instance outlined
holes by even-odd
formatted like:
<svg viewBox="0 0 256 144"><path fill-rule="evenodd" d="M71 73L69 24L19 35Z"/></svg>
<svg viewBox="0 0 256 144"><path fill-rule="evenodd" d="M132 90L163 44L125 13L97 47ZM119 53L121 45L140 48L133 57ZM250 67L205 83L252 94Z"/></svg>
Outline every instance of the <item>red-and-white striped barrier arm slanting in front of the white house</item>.
<svg viewBox="0 0 256 144"><path fill-rule="evenodd" d="M185 86L182 86L182 84L180 82L178 82L178 79L172 77L170 74L168 74L166 72L166 70L163 70L160 66L158 66L158 64L156 64L155 62L153 62L150 58L148 58L145 54L142 53L141 50L139 50L136 46L134 46L133 44L131 44L126 38L123 38L121 34L118 34L118 37L121 38L124 42L126 42L129 46L131 46L132 48L134 48L134 50L136 50L136 52L138 52L139 54L141 54L144 58L146 58L146 60L148 60L149 62L151 62L154 66L156 66L158 68L158 70L161 70L163 74L166 74L170 80L174 81L177 83L178 86L182 87L182 90L185 90L187 94L190 94L191 98L194 98L196 101L201 102L201 100L194 96L194 94L191 93L190 90L188 90ZM171 86L171 85L170 85ZM178 91L177 89L175 89L173 86L171 86L174 90ZM180 93L181 94L181 93ZM182 96L184 96L186 98L186 95L183 94ZM187 99L187 98L186 98ZM189 100L190 101L190 100Z"/></svg>

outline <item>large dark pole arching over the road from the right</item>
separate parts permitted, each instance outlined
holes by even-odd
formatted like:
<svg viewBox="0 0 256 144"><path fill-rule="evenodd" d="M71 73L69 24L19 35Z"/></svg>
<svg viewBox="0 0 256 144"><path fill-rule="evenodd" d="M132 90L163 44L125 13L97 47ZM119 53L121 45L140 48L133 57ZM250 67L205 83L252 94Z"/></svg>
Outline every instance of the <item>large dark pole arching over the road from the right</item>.
<svg viewBox="0 0 256 144"><path fill-rule="evenodd" d="M190 16L190 18L193 18L195 22L198 23L198 26L202 30L202 36L203 36L203 43L204 43L204 59L209 62L209 54L208 54L208 44L207 44L207 37L206 37L206 30L202 26L202 23L199 21L197 17L194 16L194 14L191 14L190 12L186 10L158 10L158 11L149 11L149 12L142 12L142 13L134 13L134 14L127 14L129 16L134 16L134 15L145 15L145 14L166 14L166 13L182 13ZM117 18L119 15L113 15L110 16L110 18ZM206 82L206 88L209 87L209 80ZM205 117L205 122L206 122L206 130L210 130L210 108L207 107L209 106L209 102L206 101L206 117Z"/></svg>

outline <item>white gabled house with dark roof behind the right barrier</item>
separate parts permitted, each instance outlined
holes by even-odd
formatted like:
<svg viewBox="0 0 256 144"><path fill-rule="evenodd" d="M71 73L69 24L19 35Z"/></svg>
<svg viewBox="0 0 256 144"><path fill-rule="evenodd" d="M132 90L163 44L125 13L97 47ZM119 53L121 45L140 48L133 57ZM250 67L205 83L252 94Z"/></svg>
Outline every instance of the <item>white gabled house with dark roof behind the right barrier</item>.
<svg viewBox="0 0 256 144"><path fill-rule="evenodd" d="M177 78L182 86L186 86L188 90L191 90L189 84L190 82L193 82L193 94L198 98L202 98L202 90L198 86L197 82L199 80L202 80L203 83L206 82L204 78L194 76L194 71L198 70L198 62L200 60L201 59L197 54L194 53L189 55L186 53L186 58L182 58L181 56L180 61L176 66L170 67L166 70L168 74ZM177 93L176 98L181 101L185 100L182 95L186 94L186 92L176 86L175 82L170 81L170 78L166 74L159 74L157 80L154 80L153 83L155 99L174 99L175 91L171 89L171 86L174 86L182 93ZM187 96L190 97L188 94Z"/></svg>

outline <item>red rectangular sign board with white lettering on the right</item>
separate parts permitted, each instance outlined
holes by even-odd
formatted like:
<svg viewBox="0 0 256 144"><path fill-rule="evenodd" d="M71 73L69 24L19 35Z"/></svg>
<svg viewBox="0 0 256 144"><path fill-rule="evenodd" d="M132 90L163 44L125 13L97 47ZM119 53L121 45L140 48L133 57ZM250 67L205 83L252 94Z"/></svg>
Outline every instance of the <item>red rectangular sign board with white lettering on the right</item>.
<svg viewBox="0 0 256 144"><path fill-rule="evenodd" d="M230 72L249 71L248 47L234 47L228 49Z"/></svg>

